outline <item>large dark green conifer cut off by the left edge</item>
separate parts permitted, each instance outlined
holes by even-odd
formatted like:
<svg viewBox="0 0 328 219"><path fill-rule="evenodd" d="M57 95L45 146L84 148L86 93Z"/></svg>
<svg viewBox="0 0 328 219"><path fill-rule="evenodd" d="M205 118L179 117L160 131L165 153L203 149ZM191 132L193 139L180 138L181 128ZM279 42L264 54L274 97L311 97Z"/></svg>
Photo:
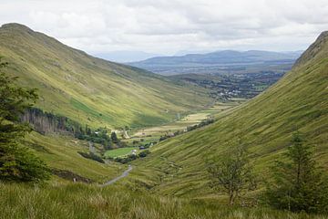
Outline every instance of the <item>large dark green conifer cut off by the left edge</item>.
<svg viewBox="0 0 328 219"><path fill-rule="evenodd" d="M48 169L21 145L31 129L20 122L20 115L36 102L36 89L16 86L17 78L10 78L2 71L6 66L0 59L0 180L39 182L48 178Z"/></svg>

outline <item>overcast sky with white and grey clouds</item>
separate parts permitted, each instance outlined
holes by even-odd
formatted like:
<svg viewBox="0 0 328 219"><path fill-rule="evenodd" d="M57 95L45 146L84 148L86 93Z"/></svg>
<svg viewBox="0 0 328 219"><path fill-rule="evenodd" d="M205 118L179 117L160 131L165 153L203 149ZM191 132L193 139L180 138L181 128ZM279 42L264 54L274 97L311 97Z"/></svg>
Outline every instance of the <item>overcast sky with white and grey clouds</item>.
<svg viewBox="0 0 328 219"><path fill-rule="evenodd" d="M0 0L11 22L91 54L302 50L328 30L328 0Z"/></svg>

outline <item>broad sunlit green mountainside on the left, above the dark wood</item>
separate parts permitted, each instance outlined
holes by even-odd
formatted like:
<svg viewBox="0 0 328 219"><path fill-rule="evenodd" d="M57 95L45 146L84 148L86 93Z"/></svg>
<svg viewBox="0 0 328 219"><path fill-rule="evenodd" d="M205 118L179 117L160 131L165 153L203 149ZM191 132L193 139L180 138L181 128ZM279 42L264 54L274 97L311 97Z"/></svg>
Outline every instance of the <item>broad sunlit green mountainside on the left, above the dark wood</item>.
<svg viewBox="0 0 328 219"><path fill-rule="evenodd" d="M159 124L210 102L204 89L88 56L18 24L0 28L0 56L23 86L39 89L38 108L93 127Z"/></svg>

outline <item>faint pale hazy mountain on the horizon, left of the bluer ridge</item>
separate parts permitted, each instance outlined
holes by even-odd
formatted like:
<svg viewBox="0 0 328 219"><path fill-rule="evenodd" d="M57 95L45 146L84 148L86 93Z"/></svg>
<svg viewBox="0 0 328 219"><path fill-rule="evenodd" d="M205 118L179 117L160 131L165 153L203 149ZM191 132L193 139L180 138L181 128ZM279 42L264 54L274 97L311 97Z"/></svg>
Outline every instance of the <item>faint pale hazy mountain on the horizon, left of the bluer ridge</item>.
<svg viewBox="0 0 328 219"><path fill-rule="evenodd" d="M108 61L119 63L137 62L150 57L159 57L159 54L146 53L142 51L112 51L106 53L95 53L95 57L101 57Z"/></svg>

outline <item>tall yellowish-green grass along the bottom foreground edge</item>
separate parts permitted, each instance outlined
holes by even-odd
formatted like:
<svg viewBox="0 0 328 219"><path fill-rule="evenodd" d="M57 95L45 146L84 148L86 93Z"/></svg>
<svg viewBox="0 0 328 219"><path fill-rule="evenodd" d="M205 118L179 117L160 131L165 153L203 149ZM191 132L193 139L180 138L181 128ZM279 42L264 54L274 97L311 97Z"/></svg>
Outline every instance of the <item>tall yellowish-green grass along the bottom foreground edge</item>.
<svg viewBox="0 0 328 219"><path fill-rule="evenodd" d="M31 186L0 183L0 218L326 218L266 208L230 208L200 200L160 197L128 186Z"/></svg>

